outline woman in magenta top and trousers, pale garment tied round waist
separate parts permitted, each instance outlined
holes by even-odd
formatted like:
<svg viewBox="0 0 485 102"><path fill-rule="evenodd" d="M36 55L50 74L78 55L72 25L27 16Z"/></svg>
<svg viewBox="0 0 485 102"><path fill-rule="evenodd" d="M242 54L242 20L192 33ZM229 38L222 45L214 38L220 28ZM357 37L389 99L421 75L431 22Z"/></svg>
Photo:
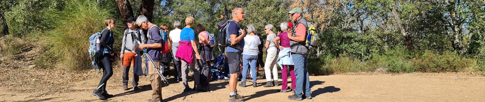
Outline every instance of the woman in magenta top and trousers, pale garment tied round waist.
<svg viewBox="0 0 485 102"><path fill-rule="evenodd" d="M281 78L283 82L281 84L281 89L279 90L279 92L288 92L288 70L290 70L291 76L291 91L294 91L294 89L296 88L296 76L294 71L293 58L291 57L290 38L288 38L288 31L291 30L293 25L290 22L283 22L279 26L283 32L278 32L278 36L276 36L275 40L273 40L273 43L276 45L276 47L281 50L278 54L278 59L276 59L276 62L282 68L281 75L283 76Z"/></svg>

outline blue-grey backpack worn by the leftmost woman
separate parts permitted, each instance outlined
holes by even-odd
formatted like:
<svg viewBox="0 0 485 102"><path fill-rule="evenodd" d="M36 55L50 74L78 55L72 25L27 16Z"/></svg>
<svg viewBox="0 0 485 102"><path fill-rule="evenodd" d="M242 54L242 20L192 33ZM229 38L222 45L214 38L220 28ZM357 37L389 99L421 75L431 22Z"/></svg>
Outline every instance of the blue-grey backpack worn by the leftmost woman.
<svg viewBox="0 0 485 102"><path fill-rule="evenodd" d="M96 68L96 69L99 69L99 65L97 63L97 60L96 58L103 55L103 51L104 51L104 48L102 49L97 49L97 45L96 45L96 41L97 39L101 38L101 34L103 33L103 31L106 30L106 29L103 29L101 32L97 32L97 33L94 33L93 35L91 35L89 37L89 49L88 49L88 52L89 52L89 58L93 59L93 67ZM110 37L108 37L108 40L107 42L109 42L111 40L111 33L110 33Z"/></svg>

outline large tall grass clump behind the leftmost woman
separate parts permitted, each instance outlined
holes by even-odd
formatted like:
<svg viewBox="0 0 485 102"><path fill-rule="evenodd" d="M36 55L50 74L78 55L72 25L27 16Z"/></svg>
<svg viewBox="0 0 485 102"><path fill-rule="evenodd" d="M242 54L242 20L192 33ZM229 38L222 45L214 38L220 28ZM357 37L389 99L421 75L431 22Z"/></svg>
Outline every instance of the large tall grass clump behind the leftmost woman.
<svg viewBox="0 0 485 102"><path fill-rule="evenodd" d="M62 11L50 14L52 30L45 34L49 53L70 70L90 69L87 53L89 36L105 28L104 19L113 17L113 8L102 8L94 0L70 0Z"/></svg>

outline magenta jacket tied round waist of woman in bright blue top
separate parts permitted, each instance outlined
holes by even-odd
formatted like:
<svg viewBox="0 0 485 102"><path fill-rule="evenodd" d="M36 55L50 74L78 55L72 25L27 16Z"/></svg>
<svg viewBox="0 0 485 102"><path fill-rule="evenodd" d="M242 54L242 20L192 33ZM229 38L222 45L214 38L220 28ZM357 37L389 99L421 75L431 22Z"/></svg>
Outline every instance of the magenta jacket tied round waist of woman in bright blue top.
<svg viewBox="0 0 485 102"><path fill-rule="evenodd" d="M192 48L192 43L189 41L179 41L175 58L183 60L189 64L194 63L192 62L192 59L194 59L194 48Z"/></svg>

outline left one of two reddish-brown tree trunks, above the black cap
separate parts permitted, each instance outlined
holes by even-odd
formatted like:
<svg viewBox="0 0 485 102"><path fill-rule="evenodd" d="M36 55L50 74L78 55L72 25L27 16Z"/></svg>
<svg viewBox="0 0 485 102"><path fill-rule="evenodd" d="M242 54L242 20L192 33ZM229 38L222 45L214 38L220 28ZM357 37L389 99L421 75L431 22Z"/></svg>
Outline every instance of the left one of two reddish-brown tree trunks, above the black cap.
<svg viewBox="0 0 485 102"><path fill-rule="evenodd" d="M129 17L136 18L133 15L133 8L131 8L131 4L129 4L129 0L116 0L118 3L118 8L121 13L122 22L123 22L123 29L128 29L127 20Z"/></svg>

